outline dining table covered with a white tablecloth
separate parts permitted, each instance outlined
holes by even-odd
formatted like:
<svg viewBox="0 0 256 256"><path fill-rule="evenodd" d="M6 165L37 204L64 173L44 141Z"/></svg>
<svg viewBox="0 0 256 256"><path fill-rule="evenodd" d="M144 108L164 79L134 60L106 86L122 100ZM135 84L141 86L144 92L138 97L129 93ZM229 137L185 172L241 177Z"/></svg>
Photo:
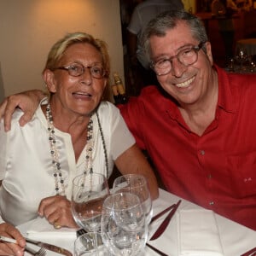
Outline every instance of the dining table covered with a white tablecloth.
<svg viewBox="0 0 256 256"><path fill-rule="evenodd" d="M168 212L166 212L161 218L158 218L154 223L148 226L148 241L147 243L161 252L166 253L166 255L177 256L179 255L178 242L179 242L179 232L178 232L178 214L182 211L206 211L195 203L186 201L183 198L178 197L167 192L164 189L160 189L160 196L158 199L153 201L153 216L166 207L171 206L177 201L181 200L176 213L171 219L170 223L167 225L164 233L154 241L149 241L150 237L154 234L154 231L158 229L162 221L166 218ZM216 220L219 240L223 249L224 256L239 256L243 253L249 251L250 249L256 247L256 232L238 224L228 218L224 218L217 213L214 214L214 219ZM196 216L195 216L196 218ZM200 216L198 216L200 218ZM17 226L20 232L33 240L44 241L56 246L66 248L73 253L73 243L76 239L76 230L61 228L60 230L55 230L51 224L49 224L44 218L36 218L25 224L20 224ZM207 236L206 236L207 239ZM204 243L206 241L201 241ZM207 241L208 244L211 242ZM32 247L36 247L32 245ZM25 255L29 255L26 254ZM47 250L47 256L57 256L61 255L59 253L54 253ZM140 256L157 256L159 253L154 252L150 247L146 246L140 253ZM204 254L201 254L204 255ZM210 255L210 254L209 254Z"/></svg>

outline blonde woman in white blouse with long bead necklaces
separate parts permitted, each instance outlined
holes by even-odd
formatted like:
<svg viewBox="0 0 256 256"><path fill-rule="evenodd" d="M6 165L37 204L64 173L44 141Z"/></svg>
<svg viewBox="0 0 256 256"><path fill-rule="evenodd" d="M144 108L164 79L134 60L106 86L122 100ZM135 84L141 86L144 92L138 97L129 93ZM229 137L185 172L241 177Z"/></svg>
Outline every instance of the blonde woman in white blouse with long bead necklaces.
<svg viewBox="0 0 256 256"><path fill-rule="evenodd" d="M44 217L56 229L77 227L71 212L73 178L86 172L110 177L141 173L152 199L158 196L154 172L124 119L102 95L110 73L107 45L87 33L67 34L49 51L43 71L49 99L40 102L21 128L16 109L12 129L0 130L0 254L21 255L24 238L15 225ZM29 206L29 207L28 207Z"/></svg>

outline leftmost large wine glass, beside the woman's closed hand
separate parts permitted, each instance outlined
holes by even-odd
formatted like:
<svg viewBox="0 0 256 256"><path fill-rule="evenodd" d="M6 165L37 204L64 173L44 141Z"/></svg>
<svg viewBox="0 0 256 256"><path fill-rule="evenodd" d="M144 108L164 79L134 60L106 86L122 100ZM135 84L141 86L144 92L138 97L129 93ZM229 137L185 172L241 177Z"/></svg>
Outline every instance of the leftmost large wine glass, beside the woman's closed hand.
<svg viewBox="0 0 256 256"><path fill-rule="evenodd" d="M109 195L107 178L96 172L73 179L71 208L75 222L87 232L101 228L102 204Z"/></svg>

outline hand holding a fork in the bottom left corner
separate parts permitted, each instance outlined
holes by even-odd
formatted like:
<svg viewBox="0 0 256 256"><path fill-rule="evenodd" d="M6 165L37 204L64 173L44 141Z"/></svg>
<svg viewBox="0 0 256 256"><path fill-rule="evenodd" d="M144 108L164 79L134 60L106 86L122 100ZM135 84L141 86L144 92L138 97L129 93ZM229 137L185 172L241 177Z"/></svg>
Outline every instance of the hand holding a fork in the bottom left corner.
<svg viewBox="0 0 256 256"><path fill-rule="evenodd" d="M0 224L0 236L7 236L15 239L17 243L11 242L0 242L0 255L15 255L22 256L24 254L24 247L26 241L20 234L20 231L15 229L11 224L3 223Z"/></svg>

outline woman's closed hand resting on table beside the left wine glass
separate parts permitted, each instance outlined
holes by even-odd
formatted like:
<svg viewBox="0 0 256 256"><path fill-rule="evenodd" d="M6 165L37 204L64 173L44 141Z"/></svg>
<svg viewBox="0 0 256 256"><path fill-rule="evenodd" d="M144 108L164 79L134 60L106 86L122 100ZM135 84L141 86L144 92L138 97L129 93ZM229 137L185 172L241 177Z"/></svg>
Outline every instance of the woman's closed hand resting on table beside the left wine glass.
<svg viewBox="0 0 256 256"><path fill-rule="evenodd" d="M66 196L55 195L44 198L38 207L38 214L44 216L56 229L78 227L71 212L71 202Z"/></svg>

